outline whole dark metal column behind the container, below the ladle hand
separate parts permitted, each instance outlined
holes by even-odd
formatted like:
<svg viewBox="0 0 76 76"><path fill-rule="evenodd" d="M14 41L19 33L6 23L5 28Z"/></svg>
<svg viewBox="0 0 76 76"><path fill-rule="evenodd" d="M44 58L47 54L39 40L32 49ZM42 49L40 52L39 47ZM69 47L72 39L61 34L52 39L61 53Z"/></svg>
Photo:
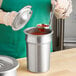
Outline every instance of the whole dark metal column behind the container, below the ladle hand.
<svg viewBox="0 0 76 76"><path fill-rule="evenodd" d="M64 19L53 19L53 50L63 50L64 49Z"/></svg>

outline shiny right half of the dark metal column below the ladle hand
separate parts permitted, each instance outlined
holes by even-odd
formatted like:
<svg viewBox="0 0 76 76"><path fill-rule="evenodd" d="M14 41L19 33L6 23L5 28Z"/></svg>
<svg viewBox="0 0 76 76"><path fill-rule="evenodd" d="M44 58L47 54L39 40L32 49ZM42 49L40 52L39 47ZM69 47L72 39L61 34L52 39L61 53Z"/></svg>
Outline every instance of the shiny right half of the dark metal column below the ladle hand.
<svg viewBox="0 0 76 76"><path fill-rule="evenodd" d="M57 37L58 37L58 50L64 49L64 19L58 19L57 24Z"/></svg>

